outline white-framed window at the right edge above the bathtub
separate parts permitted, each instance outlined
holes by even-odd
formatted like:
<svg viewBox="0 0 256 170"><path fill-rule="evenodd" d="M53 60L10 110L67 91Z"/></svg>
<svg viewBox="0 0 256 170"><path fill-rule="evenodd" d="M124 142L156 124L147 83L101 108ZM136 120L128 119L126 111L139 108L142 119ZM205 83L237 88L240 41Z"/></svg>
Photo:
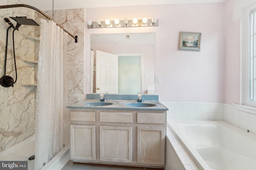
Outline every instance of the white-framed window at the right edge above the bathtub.
<svg viewBox="0 0 256 170"><path fill-rule="evenodd" d="M242 9L242 105L256 107L256 3Z"/></svg>

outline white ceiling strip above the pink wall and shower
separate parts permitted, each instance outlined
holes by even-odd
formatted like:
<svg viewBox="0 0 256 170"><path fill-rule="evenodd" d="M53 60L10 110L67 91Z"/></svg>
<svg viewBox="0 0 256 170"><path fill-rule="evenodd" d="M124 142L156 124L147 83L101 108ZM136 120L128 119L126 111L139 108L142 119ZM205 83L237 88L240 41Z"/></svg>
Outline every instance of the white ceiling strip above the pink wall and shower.
<svg viewBox="0 0 256 170"><path fill-rule="evenodd" d="M23 4L42 11L74 8L101 8L114 6L136 6L156 4L219 3L226 0L20 0ZM54 2L54 3L53 3Z"/></svg>

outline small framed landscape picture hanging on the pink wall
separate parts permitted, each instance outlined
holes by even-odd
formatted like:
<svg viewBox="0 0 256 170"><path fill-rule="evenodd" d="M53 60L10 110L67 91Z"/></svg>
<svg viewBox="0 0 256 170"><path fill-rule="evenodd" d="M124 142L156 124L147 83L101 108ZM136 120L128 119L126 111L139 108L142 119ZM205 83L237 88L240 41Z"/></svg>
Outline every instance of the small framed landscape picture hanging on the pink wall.
<svg viewBox="0 0 256 170"><path fill-rule="evenodd" d="M179 50L200 51L201 34L180 32Z"/></svg>

